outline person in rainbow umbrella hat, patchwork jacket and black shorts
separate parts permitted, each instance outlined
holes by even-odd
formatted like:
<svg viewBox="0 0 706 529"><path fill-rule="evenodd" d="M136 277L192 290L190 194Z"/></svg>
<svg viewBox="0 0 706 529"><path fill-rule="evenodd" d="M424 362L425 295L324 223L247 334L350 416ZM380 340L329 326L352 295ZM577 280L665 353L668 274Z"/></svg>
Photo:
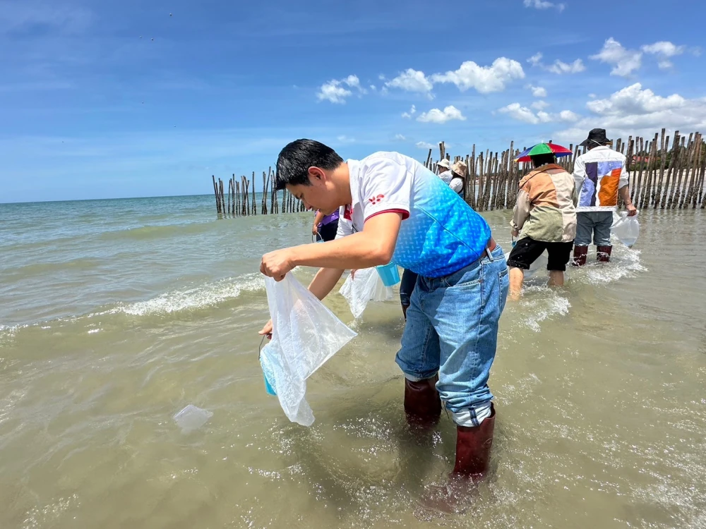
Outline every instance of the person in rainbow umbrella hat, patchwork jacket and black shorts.
<svg viewBox="0 0 706 529"><path fill-rule="evenodd" d="M522 294L524 270L529 270L544 250L549 254L549 286L563 286L564 272L576 236L578 192L572 175L556 164L557 156L571 151L554 143L539 143L515 160L532 162L534 170L520 180L517 203L510 222L515 244L510 267L510 299Z"/></svg>

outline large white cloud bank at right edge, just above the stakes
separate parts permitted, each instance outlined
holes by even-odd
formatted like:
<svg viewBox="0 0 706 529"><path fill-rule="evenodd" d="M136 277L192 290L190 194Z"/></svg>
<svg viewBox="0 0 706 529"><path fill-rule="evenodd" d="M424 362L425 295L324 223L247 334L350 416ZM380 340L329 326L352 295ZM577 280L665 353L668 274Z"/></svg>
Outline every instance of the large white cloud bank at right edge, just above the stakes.
<svg viewBox="0 0 706 529"><path fill-rule="evenodd" d="M557 138L575 141L585 138L595 127L608 130L609 138L628 135L653 135L661 128L704 130L706 98L686 99L678 94L660 96L642 88L640 83L618 90L606 99L586 103L592 116L580 119L573 128L557 133Z"/></svg>

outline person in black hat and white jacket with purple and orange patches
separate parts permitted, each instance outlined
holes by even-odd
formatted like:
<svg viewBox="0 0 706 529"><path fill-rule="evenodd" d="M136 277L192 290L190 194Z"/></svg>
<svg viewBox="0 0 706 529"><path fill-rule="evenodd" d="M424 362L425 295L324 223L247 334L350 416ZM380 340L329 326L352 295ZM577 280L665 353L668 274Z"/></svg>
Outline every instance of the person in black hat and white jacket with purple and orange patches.
<svg viewBox="0 0 706 529"><path fill-rule="evenodd" d="M611 258L611 225L613 212L618 209L621 196L628 217L638 214L630 200L626 157L612 150L611 140L606 138L604 128L594 128L580 145L588 152L576 159L573 177L580 190L577 214L576 240L574 242L574 266L586 264L588 247L596 245L597 259L608 262Z"/></svg>

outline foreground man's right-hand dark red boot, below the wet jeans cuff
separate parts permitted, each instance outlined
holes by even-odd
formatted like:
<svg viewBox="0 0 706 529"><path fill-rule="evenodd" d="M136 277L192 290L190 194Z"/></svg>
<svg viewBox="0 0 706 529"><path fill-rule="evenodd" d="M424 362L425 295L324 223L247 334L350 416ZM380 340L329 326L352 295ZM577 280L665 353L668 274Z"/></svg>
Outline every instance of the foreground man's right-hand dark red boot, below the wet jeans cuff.
<svg viewBox="0 0 706 529"><path fill-rule="evenodd" d="M479 482L488 473L490 451L495 430L495 406L491 404L490 417L478 426L456 427L456 464L453 473Z"/></svg>

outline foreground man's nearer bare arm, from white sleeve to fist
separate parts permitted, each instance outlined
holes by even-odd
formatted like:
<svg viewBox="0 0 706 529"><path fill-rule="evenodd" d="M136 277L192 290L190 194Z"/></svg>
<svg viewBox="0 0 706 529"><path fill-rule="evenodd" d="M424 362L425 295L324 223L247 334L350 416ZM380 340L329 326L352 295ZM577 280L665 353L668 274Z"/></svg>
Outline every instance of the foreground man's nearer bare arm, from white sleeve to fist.
<svg viewBox="0 0 706 529"><path fill-rule="evenodd" d="M260 271L282 281L297 266L345 270L387 265L395 253L401 225L402 213L381 212L368 218L363 231L350 236L267 253L263 255Z"/></svg>

